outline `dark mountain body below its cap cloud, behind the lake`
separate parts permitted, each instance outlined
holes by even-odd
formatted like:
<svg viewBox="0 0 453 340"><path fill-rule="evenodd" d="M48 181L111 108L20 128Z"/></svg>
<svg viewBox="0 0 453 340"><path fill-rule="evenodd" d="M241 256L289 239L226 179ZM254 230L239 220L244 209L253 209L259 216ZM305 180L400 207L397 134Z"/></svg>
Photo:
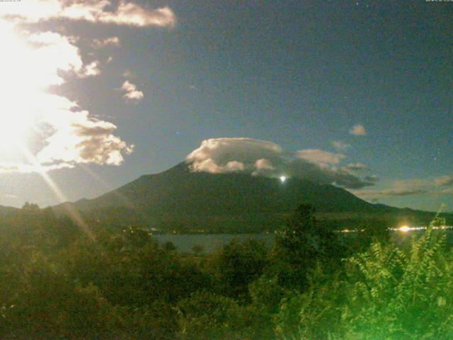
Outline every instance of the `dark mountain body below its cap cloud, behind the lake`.
<svg viewBox="0 0 453 340"><path fill-rule="evenodd" d="M280 223L302 202L311 203L321 217L348 220L350 217L387 215L427 215L415 210L399 210L357 198L343 188L297 178L280 179L248 174L191 172L181 163L160 174L139 177L125 186L91 200L57 205L64 213L68 205L84 215L144 223L159 229L218 229L266 221ZM428 217L429 215L429 217ZM108 217L110 216L110 217ZM337 218L338 217L338 218ZM112 221L110 221L112 222ZM241 227L239 227L240 229Z"/></svg>

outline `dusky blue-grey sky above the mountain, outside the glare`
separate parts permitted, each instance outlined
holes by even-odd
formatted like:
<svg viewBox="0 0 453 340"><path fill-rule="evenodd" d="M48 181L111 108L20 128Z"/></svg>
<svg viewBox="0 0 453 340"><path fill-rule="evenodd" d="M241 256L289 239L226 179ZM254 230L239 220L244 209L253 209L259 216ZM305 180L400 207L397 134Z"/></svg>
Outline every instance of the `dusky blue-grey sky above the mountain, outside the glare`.
<svg viewBox="0 0 453 340"><path fill-rule="evenodd" d="M19 33L70 37L83 65L52 69L64 81L45 91L88 111L75 125L68 108L68 130L42 113L41 130L25 138L40 171L11 166L30 157L0 152L1 205L93 198L182 162L209 139L214 152L234 143L241 154L248 146L238 137L247 137L362 179L348 190L371 202L453 211L453 2L102 1L93 12L99 2L74 7L76 18L25 13L57 0L0 3ZM133 7L117 9L125 4ZM136 23L139 14L150 21ZM50 43L37 41L30 48ZM14 114L0 108L3 121ZM86 149L62 156L78 145L65 134L87 138ZM62 138L69 147L50 148ZM227 166L234 152L213 156L216 169L242 171Z"/></svg>

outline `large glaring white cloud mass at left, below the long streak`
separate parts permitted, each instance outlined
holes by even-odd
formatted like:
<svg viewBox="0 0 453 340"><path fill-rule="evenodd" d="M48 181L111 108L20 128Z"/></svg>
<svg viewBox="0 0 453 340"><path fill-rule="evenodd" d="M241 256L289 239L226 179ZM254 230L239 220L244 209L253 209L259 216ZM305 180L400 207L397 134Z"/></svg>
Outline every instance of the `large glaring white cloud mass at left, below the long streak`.
<svg viewBox="0 0 453 340"><path fill-rule="evenodd" d="M121 164L132 146L114 135L115 125L48 92L49 86L64 84L67 77L98 74L98 62L84 64L78 47L58 33L21 36L1 20L0 28L4 38L0 144L17 147L24 155L21 162L0 159L0 172L49 171L78 163ZM25 132L35 134L33 153L22 145Z"/></svg>

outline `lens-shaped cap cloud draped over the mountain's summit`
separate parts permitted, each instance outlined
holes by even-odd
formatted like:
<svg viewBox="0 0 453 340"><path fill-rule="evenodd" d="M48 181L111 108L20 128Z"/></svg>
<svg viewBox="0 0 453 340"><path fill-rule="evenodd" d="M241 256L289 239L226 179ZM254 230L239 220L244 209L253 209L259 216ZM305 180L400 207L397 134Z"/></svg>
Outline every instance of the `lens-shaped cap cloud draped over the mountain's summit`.
<svg viewBox="0 0 453 340"><path fill-rule="evenodd" d="M270 177L296 176L345 188L363 188L374 183L336 166L345 156L319 149L287 151L280 145L246 137L204 140L186 161L192 171L211 173L246 172Z"/></svg>

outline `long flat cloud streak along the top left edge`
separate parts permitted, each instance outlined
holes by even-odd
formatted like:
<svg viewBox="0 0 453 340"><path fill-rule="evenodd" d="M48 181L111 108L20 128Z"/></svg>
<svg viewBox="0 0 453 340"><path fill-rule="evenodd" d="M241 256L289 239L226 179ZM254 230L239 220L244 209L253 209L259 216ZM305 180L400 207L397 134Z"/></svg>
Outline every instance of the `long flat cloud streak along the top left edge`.
<svg viewBox="0 0 453 340"><path fill-rule="evenodd" d="M113 8L113 4L108 0L28 0L19 4L17 2L2 4L0 16L28 23L65 18L139 27L173 28L176 25L176 16L168 7L149 10L132 2L120 1L113 11L110 11L110 8Z"/></svg>

